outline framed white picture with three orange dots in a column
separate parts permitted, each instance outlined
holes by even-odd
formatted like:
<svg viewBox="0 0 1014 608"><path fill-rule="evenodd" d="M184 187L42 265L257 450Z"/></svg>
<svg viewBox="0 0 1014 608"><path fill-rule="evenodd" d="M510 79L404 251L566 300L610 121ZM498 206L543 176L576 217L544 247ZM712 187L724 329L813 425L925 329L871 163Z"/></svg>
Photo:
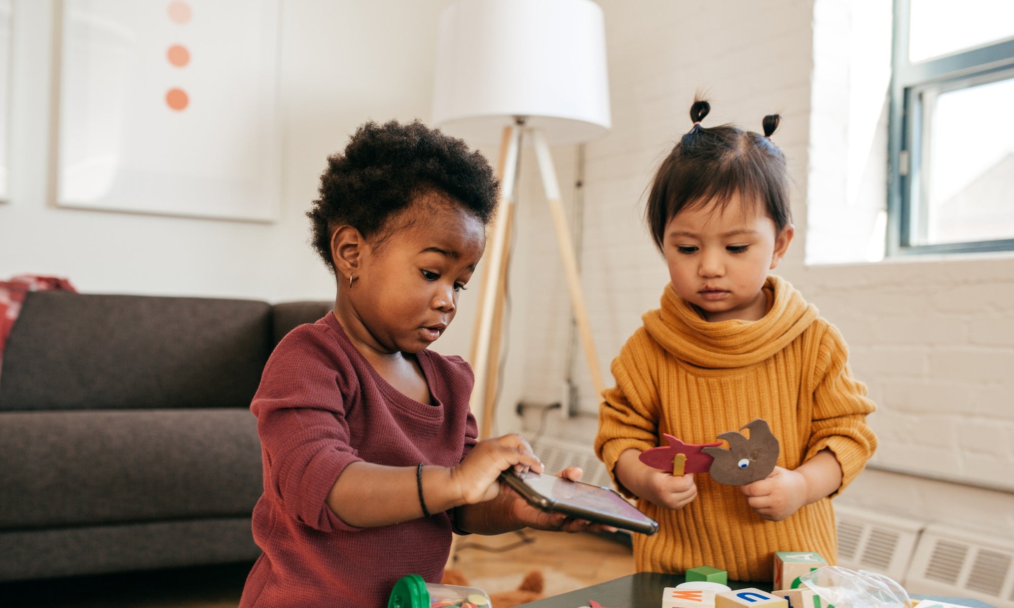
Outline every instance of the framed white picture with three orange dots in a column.
<svg viewBox="0 0 1014 608"><path fill-rule="evenodd" d="M271 222L278 0L62 0L56 204Z"/></svg>

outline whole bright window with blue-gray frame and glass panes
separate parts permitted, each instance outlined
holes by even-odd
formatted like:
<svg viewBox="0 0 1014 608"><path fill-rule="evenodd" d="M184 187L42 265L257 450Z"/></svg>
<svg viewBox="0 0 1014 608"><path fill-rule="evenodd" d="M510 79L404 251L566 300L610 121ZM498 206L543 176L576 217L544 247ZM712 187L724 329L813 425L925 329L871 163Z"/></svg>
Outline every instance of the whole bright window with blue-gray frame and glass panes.
<svg viewBox="0 0 1014 608"><path fill-rule="evenodd" d="M894 0L887 252L1014 249L1014 2Z"/></svg>

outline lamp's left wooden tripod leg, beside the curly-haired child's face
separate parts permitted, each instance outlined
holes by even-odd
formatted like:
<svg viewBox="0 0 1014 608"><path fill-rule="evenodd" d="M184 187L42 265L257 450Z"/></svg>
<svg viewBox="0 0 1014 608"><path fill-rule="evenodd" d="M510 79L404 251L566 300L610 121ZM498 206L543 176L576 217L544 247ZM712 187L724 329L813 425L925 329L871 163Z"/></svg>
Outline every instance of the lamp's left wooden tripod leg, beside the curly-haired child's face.
<svg viewBox="0 0 1014 608"><path fill-rule="evenodd" d="M480 404L484 405L482 417L480 419L480 424L482 425L482 430L479 434L480 439L489 437L495 414L493 407L486 406L485 401L487 382L490 379L491 350L494 347L492 344L494 320L497 316L497 308L502 306L502 303L498 302L498 294L502 289L501 282L504 281L504 257L507 254L509 246L507 242L507 228L510 225L511 213L508 208L512 205L514 199L514 176L517 172L520 137L520 128L508 127L504 129L500 159L500 206L497 217L493 220L492 234L489 241L487 241L486 276L482 282L476 331L473 334L470 363L473 371L476 374L476 384L472 389L468 405L472 407L473 412L480 410ZM499 332L497 333L499 335Z"/></svg>

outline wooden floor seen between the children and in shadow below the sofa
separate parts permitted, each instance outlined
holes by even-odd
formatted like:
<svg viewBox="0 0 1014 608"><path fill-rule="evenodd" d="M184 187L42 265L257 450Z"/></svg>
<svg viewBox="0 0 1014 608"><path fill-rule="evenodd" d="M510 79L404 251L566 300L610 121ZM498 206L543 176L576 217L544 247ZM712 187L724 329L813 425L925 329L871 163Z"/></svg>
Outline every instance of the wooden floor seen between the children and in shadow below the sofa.
<svg viewBox="0 0 1014 608"><path fill-rule="evenodd" d="M523 530L500 536L466 536L453 567L474 587L495 593L515 589L531 569L542 573L546 595L566 593L633 574L624 537ZM250 563L0 583L5 608L234 608Z"/></svg>

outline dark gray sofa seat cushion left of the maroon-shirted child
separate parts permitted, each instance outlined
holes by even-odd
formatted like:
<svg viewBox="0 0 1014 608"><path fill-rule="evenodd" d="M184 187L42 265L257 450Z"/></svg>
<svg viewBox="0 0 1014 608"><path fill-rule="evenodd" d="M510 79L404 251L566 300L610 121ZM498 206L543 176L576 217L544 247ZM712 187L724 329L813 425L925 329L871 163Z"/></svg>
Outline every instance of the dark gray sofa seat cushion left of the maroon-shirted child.
<svg viewBox="0 0 1014 608"><path fill-rule="evenodd" d="M249 516L247 409L0 412L0 529Z"/></svg>

